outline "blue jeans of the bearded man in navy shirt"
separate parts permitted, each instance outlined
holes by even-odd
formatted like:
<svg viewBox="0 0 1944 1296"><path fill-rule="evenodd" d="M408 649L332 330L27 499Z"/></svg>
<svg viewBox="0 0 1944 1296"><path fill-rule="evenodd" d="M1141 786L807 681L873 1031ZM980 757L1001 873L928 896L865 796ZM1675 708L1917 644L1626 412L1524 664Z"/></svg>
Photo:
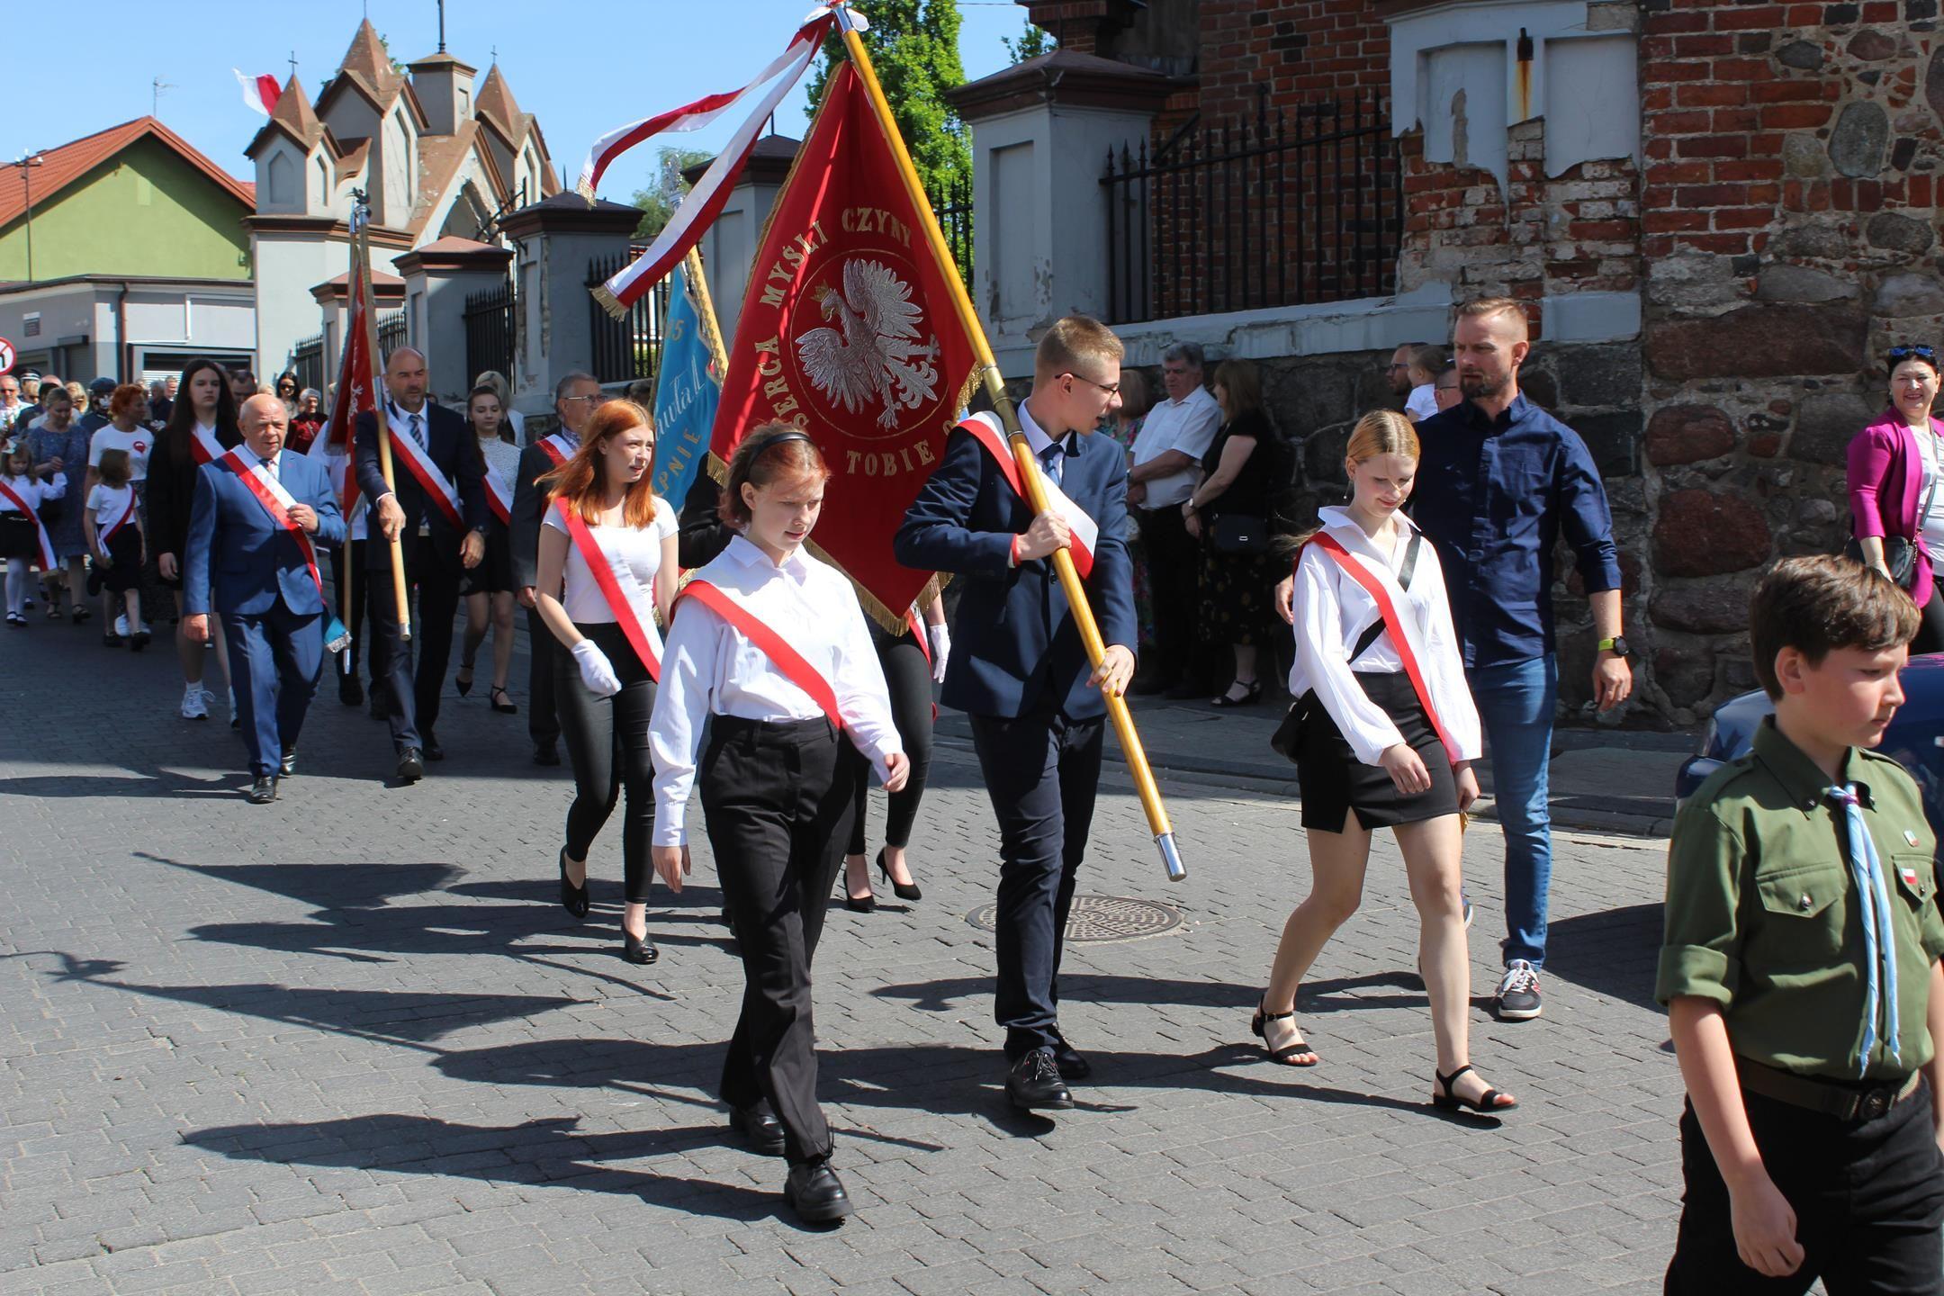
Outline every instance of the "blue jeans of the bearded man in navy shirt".
<svg viewBox="0 0 1944 1296"><path fill-rule="evenodd" d="M1545 962L1545 890L1553 882L1547 762L1559 661L1532 657L1466 672L1491 744L1491 787L1505 830L1505 962Z"/></svg>

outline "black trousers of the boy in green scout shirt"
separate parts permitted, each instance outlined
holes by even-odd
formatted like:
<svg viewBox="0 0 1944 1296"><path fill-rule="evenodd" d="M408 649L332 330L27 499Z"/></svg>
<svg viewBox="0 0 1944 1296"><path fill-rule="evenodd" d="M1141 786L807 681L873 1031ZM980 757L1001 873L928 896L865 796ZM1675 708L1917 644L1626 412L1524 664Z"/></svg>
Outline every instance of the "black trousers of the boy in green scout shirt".
<svg viewBox="0 0 1944 1296"><path fill-rule="evenodd" d="M1829 1296L1944 1292L1944 1156L1928 1082L1874 1121L1837 1121L1746 1090L1742 1102L1769 1177L1796 1212L1802 1269L1765 1279L1736 1255L1728 1187L1687 1106L1687 1191L1668 1296L1800 1296L1816 1279Z"/></svg>

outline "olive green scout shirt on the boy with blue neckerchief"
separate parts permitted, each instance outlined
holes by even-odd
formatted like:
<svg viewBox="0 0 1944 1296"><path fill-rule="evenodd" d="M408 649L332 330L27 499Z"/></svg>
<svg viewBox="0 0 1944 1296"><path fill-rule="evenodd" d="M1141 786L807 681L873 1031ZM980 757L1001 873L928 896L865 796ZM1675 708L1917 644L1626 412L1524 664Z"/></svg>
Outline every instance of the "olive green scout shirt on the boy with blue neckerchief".
<svg viewBox="0 0 1944 1296"><path fill-rule="evenodd" d="M1944 954L1944 919L1932 904L1936 837L1903 766L1851 748L1843 771L1890 874L1897 937L1901 1061L1878 1040L1864 1074L1903 1078L1930 1061L1930 964ZM1767 719L1755 750L1717 769L1682 806L1668 847L1654 997L1718 1003L1742 1057L1855 1080L1868 968L1862 915L1851 904L1849 830L1827 787L1816 762Z"/></svg>

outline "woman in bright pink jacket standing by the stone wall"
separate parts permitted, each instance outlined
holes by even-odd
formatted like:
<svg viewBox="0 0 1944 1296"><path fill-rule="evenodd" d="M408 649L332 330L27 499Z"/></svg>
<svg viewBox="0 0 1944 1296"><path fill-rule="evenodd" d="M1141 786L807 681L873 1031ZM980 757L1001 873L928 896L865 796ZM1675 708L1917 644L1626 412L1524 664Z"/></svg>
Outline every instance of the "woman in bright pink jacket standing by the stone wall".
<svg viewBox="0 0 1944 1296"><path fill-rule="evenodd" d="M1888 359L1890 408L1849 443L1849 511L1864 562L1884 573L1884 538L1913 542L1903 587L1925 620L1911 653L1944 653L1944 593L1932 571L1932 554L1944 554L1944 424L1930 418L1938 356L1893 346Z"/></svg>

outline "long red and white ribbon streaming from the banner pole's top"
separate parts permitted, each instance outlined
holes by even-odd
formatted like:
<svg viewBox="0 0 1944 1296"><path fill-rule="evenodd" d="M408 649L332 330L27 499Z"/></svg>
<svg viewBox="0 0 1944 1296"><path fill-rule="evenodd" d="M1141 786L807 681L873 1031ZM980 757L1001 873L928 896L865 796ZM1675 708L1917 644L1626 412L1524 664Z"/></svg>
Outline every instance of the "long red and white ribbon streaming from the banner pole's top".
<svg viewBox="0 0 1944 1296"><path fill-rule="evenodd" d="M622 309L634 305L647 293L649 288L665 280L669 272L675 270L682 256L688 255L688 249L702 241L704 231L708 231L708 227L721 214L723 206L729 202L729 190L735 188L735 181L743 173L743 163L748 161L748 152L756 146L756 132L762 130L764 120L768 120L770 113L776 111L776 105L783 101L783 95L795 89L797 82L803 80L811 60L816 58L816 51L822 49L824 37L830 35L832 25L838 21L836 14L840 12L844 14L844 21L848 25L859 31L865 27L861 14L850 12L844 6L818 6L797 29L797 35L791 37L789 47L743 89L706 95L669 113L630 122L595 144L595 150L587 155L587 165L581 171L579 183L581 194L589 200L593 200L595 185L601 183L601 173L607 171L608 163L612 163L622 152L665 130L700 130L702 126L713 122L719 115L727 113L733 103L741 101L752 89L770 78L776 78L776 84L762 95L748 119L737 126L737 132L715 155L715 161L710 163L710 169L702 175L688 196L682 198L682 206L675 210L675 216L663 227L661 235L645 253L636 256L614 278L603 284L597 297L607 293L607 297Z"/></svg>

